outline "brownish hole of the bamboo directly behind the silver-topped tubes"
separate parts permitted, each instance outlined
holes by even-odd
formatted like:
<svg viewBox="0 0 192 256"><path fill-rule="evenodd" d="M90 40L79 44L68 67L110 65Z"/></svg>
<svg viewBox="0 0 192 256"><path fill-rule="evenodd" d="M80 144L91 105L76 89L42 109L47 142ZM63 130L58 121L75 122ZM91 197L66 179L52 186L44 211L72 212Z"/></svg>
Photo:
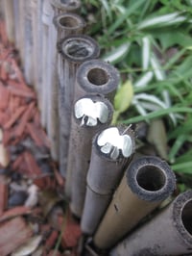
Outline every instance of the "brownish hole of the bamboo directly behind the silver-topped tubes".
<svg viewBox="0 0 192 256"><path fill-rule="evenodd" d="M88 81L96 86L102 86L108 83L108 73L102 68L92 68L87 74Z"/></svg>

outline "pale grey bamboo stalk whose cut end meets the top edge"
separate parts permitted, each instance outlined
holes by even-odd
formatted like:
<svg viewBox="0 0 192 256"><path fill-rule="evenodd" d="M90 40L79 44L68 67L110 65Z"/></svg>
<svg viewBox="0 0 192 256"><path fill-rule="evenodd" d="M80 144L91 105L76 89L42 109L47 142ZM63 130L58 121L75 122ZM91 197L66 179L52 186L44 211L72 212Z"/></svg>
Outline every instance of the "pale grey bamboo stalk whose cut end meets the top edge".
<svg viewBox="0 0 192 256"><path fill-rule="evenodd" d="M42 76L42 105L41 105L41 122L44 127L50 126L49 113L47 106L51 106L53 67L55 66L54 58L57 54L57 30L53 25L54 16L66 12L77 12L81 6L80 1L61 1L46 0L43 2L43 76ZM54 65L53 65L54 62Z"/></svg>

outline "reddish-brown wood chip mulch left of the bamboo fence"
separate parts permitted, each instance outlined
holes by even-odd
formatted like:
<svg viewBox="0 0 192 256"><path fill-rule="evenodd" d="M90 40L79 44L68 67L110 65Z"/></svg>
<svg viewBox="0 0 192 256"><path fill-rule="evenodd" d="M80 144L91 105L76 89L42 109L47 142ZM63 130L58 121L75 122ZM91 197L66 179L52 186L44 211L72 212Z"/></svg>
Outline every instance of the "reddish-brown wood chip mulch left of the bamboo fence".
<svg viewBox="0 0 192 256"><path fill-rule="evenodd" d="M74 256L81 230L50 157L36 91L26 85L18 60L0 20L0 255L14 255L22 245L33 256Z"/></svg>

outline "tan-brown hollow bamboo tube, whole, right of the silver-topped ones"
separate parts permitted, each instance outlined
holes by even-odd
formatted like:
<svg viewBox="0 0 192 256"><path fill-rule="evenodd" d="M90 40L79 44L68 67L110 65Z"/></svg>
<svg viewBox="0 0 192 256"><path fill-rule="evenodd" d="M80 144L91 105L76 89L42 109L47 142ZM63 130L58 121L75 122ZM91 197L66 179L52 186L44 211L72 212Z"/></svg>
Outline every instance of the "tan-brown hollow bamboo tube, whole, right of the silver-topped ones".
<svg viewBox="0 0 192 256"><path fill-rule="evenodd" d="M142 157L133 161L96 231L93 238L96 246L105 249L118 243L175 187L175 175L166 162L156 157Z"/></svg>

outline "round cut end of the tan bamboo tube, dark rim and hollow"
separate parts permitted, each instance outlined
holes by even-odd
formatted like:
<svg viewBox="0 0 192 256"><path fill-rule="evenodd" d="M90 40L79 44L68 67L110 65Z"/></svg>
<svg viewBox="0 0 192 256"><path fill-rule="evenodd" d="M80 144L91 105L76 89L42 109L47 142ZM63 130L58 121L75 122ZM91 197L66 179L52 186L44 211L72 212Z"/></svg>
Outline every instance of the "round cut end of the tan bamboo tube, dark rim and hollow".
<svg viewBox="0 0 192 256"><path fill-rule="evenodd" d="M176 187L176 177L170 166L157 157L141 157L132 162L127 171L127 182L140 199L162 201Z"/></svg>

